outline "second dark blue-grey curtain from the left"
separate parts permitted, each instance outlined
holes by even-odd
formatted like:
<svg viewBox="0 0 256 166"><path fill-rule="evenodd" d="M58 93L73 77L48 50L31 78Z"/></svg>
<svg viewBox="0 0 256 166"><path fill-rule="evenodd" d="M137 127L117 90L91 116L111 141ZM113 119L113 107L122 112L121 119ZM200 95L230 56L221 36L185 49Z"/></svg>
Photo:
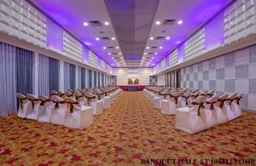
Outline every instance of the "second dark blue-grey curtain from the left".
<svg viewBox="0 0 256 166"><path fill-rule="evenodd" d="M60 61L49 58L49 94L51 90L59 90Z"/></svg>

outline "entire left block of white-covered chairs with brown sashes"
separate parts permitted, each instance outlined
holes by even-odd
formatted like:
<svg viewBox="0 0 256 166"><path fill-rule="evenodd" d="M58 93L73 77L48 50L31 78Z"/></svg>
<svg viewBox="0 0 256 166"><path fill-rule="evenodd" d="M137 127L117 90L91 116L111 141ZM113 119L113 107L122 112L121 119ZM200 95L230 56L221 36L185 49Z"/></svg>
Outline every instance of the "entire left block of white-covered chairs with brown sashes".
<svg viewBox="0 0 256 166"><path fill-rule="evenodd" d="M20 106L17 116L42 123L64 125L71 129L84 129L93 123L93 116L102 114L116 100L122 89L69 89L63 93L52 91L50 97L17 93Z"/></svg>

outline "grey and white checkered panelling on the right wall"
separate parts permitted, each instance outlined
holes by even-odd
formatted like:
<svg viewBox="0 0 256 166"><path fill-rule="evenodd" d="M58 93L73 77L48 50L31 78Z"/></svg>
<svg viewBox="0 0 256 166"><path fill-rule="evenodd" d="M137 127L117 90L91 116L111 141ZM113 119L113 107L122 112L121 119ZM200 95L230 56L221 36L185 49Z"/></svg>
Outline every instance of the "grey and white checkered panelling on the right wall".
<svg viewBox="0 0 256 166"><path fill-rule="evenodd" d="M243 93L241 106L256 111L256 45L184 67L181 87Z"/></svg>

